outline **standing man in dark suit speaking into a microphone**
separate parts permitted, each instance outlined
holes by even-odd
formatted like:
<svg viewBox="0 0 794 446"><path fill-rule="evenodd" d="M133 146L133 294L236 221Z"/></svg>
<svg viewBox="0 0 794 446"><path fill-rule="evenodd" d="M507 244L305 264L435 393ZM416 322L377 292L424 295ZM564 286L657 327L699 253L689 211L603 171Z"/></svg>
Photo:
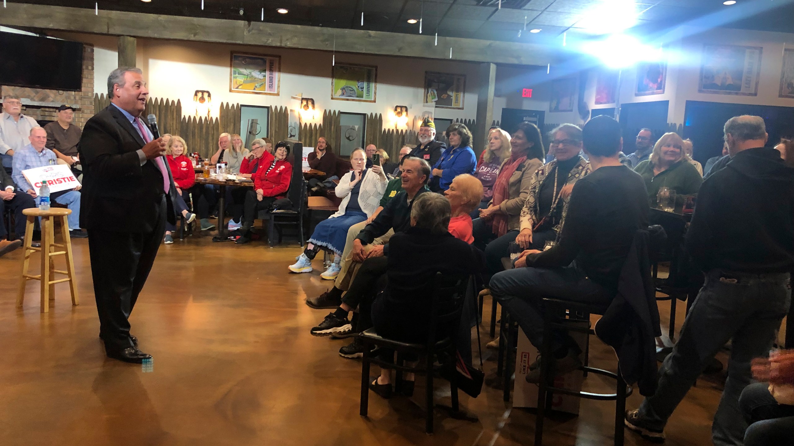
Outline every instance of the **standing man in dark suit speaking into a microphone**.
<svg viewBox="0 0 794 446"><path fill-rule="evenodd" d="M80 138L83 203L99 336L110 358L142 363L129 313L152 269L165 222L175 224L174 181L165 143L141 114L148 90L141 70L119 67L107 80L110 106L86 123Z"/></svg>

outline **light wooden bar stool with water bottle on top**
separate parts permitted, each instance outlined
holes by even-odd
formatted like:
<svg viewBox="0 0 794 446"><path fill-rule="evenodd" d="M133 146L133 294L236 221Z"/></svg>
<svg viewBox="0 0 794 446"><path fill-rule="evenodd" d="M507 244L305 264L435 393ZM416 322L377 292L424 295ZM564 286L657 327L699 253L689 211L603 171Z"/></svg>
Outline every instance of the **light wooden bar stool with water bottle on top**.
<svg viewBox="0 0 794 446"><path fill-rule="evenodd" d="M69 238L69 225L66 217L71 213L71 210L51 208L50 210L40 210L38 208L30 208L23 210L28 216L28 222L25 226L25 256L22 258L22 282L19 285L19 294L17 294L17 307L22 306L25 300L25 283L29 280L39 280L41 282L41 313L49 311L49 299L55 298L55 284L61 282L68 282L69 289L71 290L71 305L79 305L77 298L77 288L75 286L75 261L71 256L71 239ZM33 248L33 223L36 217L41 217L41 248ZM53 217L60 217L61 236L64 243L55 243L55 231L53 229L55 220ZM56 251L55 248L60 248L62 251ZM28 267L30 265L30 255L34 251L41 253L41 274L29 275ZM66 271L55 269L55 263L52 261L52 256L66 256ZM52 280L53 276L58 274L67 275L66 279Z"/></svg>

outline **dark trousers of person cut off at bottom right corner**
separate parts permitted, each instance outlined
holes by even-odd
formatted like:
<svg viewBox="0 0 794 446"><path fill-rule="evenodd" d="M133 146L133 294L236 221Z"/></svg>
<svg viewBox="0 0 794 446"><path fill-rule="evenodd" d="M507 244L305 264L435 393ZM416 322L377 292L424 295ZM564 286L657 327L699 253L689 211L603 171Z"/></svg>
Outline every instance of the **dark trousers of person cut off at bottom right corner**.
<svg viewBox="0 0 794 446"><path fill-rule="evenodd" d="M746 386L739 397L745 421L745 446L784 446L794 438L794 406L778 404L769 383Z"/></svg>

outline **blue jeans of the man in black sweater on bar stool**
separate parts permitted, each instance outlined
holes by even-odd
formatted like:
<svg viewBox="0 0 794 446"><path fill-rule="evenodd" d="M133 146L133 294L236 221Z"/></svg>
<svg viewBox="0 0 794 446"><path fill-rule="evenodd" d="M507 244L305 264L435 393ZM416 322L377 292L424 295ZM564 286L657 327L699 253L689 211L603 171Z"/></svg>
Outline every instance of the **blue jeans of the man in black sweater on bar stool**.
<svg viewBox="0 0 794 446"><path fill-rule="evenodd" d="M614 292L588 279L576 263L564 268L522 267L499 272L491 278L491 295L518 321L538 351L543 346L543 298L606 305L615 297ZM572 347L571 342L566 333L554 333L552 350Z"/></svg>

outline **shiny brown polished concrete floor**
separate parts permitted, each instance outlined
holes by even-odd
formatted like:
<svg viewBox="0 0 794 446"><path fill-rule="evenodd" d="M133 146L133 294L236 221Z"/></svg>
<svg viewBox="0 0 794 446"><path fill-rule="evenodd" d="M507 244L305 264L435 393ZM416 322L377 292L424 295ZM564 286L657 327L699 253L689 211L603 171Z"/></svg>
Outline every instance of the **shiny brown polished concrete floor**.
<svg viewBox="0 0 794 446"><path fill-rule="evenodd" d="M337 355L349 340L309 334L327 311L303 300L331 283L321 271L288 273L297 244L237 246L193 236L163 245L131 317L153 369L106 359L87 240L73 245L81 303L71 306L60 284L45 314L38 283L29 284L23 308L14 306L21 250L0 259L2 445L531 444L534 414L512 409L488 386L478 398L461 393L461 406L479 421L437 411L434 436L424 433L421 384L413 400L370 394L369 417L360 417L360 362ZM661 312L666 325L666 302ZM677 325L683 317L679 306ZM495 354L484 355L486 373L493 373ZM598 340L591 358L597 367L615 367L611 349ZM607 390L595 375L585 386ZM719 375L699 381L673 415L667 444L711 444L721 386ZM449 403L449 386L437 383L436 392ZM627 406L640 398L633 395ZM611 402L584 401L579 417L547 422L545 444L611 444L613 413ZM626 433L626 444L643 443Z"/></svg>

